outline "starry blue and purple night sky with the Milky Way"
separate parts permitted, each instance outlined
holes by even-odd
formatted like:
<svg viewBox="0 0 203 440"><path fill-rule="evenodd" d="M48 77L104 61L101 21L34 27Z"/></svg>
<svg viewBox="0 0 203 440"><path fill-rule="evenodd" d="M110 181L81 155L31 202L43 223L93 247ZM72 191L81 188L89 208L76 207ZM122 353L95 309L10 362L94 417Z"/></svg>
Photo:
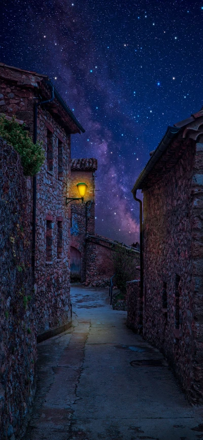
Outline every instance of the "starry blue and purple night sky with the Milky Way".
<svg viewBox="0 0 203 440"><path fill-rule="evenodd" d="M73 2L73 3L72 3ZM96 157L96 232L131 244L131 188L167 125L203 105L203 0L2 0L0 61L48 74Z"/></svg>

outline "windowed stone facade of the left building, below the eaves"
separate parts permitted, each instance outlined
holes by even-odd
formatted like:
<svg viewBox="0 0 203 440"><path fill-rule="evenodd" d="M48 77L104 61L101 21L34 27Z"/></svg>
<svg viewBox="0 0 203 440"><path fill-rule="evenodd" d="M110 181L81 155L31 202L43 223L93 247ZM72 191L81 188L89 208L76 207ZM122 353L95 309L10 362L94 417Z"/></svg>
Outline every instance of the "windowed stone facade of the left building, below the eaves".
<svg viewBox="0 0 203 440"><path fill-rule="evenodd" d="M52 171L48 168L47 132L51 133ZM38 139L45 148L45 162L37 176L35 284L36 307L40 311L38 333L42 333L71 324L70 217L69 207L65 205L71 177L71 137L47 111L39 109ZM63 151L60 171L59 144ZM59 232L62 236L60 240ZM47 256L46 248L48 250L49 246L50 255Z"/></svg>

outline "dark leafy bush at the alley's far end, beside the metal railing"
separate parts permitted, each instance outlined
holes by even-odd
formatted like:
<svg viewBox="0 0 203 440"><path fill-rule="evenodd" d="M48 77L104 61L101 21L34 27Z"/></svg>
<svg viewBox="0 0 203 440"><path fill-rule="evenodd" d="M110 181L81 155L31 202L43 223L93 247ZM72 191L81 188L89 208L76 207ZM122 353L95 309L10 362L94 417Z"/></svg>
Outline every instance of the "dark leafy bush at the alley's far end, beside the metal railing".
<svg viewBox="0 0 203 440"><path fill-rule="evenodd" d="M114 282L121 293L126 293L126 281L131 281L136 275L136 265L138 256L130 249L125 249L117 245L112 252L112 261L114 264L115 279Z"/></svg>

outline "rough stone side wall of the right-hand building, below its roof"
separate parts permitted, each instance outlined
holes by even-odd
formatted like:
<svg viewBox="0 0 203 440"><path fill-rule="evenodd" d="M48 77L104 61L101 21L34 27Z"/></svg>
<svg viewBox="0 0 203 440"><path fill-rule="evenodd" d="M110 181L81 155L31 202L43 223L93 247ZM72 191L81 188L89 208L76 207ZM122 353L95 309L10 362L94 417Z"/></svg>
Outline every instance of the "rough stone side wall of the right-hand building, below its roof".
<svg viewBox="0 0 203 440"><path fill-rule="evenodd" d="M203 396L203 160L197 150L187 144L172 170L144 191L144 337L164 352L194 403Z"/></svg>

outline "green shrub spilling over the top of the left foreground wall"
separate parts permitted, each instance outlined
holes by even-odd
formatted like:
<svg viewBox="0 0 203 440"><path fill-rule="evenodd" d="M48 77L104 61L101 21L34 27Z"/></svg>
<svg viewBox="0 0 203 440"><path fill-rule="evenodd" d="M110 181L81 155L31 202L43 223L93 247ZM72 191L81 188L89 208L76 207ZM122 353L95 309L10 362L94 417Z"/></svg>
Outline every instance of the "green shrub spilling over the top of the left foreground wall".
<svg viewBox="0 0 203 440"><path fill-rule="evenodd" d="M33 144L25 124L19 125L15 116L9 121L5 115L0 116L0 136L20 155L23 173L25 176L33 176L40 171L45 155L42 143Z"/></svg>

